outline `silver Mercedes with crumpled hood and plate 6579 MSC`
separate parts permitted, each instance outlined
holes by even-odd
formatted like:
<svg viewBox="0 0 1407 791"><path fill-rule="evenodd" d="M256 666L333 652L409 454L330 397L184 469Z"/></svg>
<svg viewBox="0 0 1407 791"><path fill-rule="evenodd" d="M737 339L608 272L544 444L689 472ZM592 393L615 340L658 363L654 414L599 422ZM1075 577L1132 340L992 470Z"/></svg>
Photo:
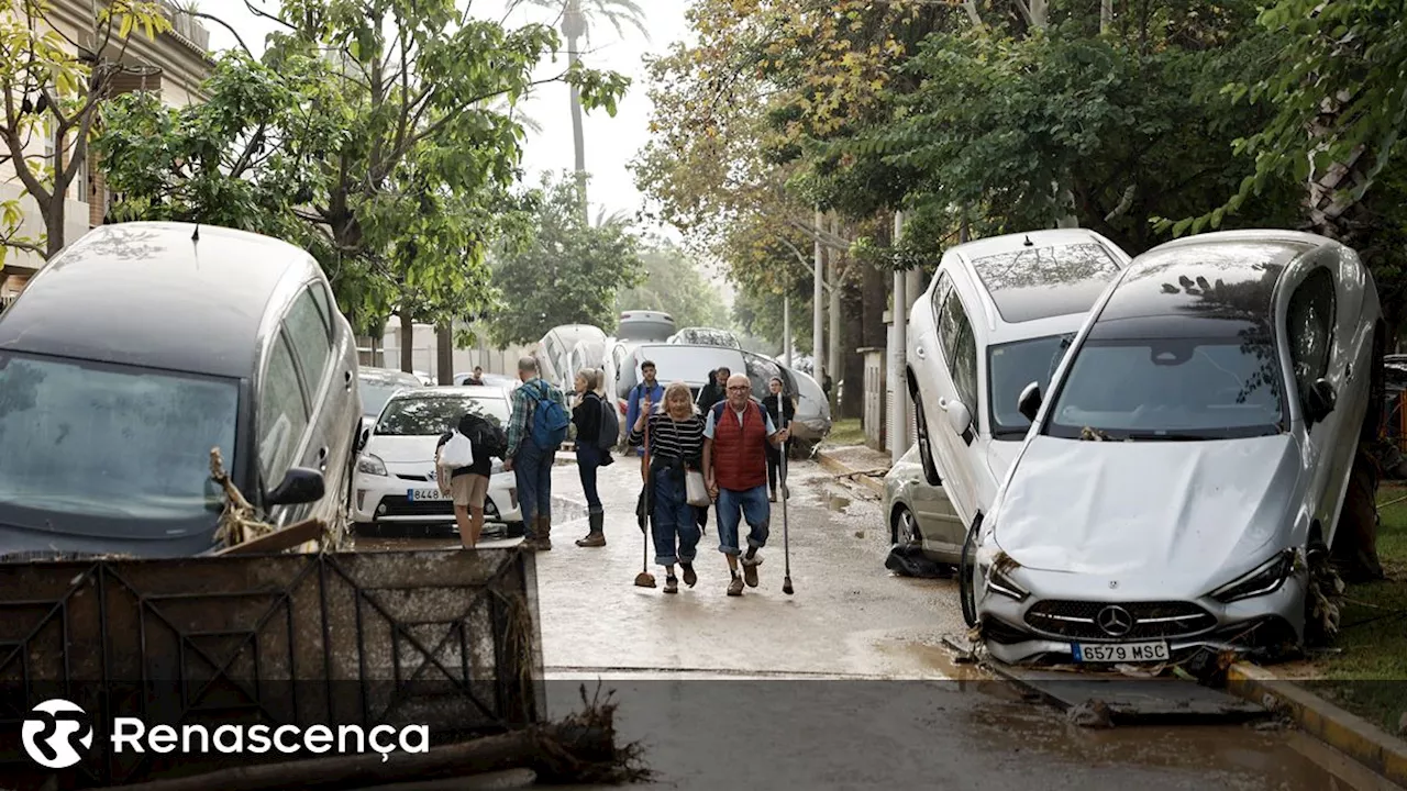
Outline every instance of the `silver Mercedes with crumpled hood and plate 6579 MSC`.
<svg viewBox="0 0 1407 791"><path fill-rule="evenodd" d="M969 535L962 604L1003 662L1300 646L1365 434L1377 289L1358 255L1231 231L1103 296Z"/></svg>

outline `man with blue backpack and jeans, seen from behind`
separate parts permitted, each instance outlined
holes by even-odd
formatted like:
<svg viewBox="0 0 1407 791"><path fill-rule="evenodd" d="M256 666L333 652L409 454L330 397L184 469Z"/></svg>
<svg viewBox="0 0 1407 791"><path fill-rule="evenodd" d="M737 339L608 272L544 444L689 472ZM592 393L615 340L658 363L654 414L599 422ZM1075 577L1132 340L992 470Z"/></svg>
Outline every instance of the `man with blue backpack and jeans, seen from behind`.
<svg viewBox="0 0 1407 791"><path fill-rule="evenodd" d="M552 464L561 445L560 438L566 436L566 426L570 425L570 412L561 390L537 374L535 357L518 360L518 380L522 384L512 394L504 470L512 472L518 480L523 546L546 552L552 549ZM556 428L559 425L560 429ZM559 441L545 442L549 436Z"/></svg>

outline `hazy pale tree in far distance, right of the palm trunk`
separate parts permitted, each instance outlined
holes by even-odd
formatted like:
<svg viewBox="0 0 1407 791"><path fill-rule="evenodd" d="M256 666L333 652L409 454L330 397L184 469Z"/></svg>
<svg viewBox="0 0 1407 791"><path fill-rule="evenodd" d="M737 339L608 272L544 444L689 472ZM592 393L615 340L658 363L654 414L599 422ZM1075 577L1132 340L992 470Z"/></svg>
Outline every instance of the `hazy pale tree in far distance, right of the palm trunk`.
<svg viewBox="0 0 1407 791"><path fill-rule="evenodd" d="M674 317L677 327L729 328L727 310L718 289L699 272L694 259L667 239L657 239L640 252L644 280L623 289L616 310L653 310Z"/></svg>

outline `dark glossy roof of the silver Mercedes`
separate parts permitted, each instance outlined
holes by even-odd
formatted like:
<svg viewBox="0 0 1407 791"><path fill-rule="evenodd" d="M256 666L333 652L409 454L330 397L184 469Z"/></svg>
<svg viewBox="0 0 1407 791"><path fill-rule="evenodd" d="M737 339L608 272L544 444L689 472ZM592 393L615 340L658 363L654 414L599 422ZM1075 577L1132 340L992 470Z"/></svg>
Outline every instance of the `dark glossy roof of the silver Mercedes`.
<svg viewBox="0 0 1407 791"><path fill-rule="evenodd" d="M1099 321L1183 315L1268 322L1286 267L1324 243L1332 242L1238 231L1159 245L1134 259Z"/></svg>

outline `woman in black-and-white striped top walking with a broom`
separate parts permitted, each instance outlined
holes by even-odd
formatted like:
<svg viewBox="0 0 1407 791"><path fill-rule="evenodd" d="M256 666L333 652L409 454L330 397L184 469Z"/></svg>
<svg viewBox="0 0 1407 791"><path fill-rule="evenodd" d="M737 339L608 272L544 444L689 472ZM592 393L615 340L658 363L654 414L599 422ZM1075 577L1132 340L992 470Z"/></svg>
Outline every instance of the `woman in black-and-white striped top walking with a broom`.
<svg viewBox="0 0 1407 791"><path fill-rule="evenodd" d="M664 398L630 426L630 445L649 436L650 483L653 484L654 562L666 569L664 593L680 593L674 566L684 567L684 584L694 587L698 574L699 525L688 502L685 472L702 470L704 415L694 405L688 384L671 383Z"/></svg>

